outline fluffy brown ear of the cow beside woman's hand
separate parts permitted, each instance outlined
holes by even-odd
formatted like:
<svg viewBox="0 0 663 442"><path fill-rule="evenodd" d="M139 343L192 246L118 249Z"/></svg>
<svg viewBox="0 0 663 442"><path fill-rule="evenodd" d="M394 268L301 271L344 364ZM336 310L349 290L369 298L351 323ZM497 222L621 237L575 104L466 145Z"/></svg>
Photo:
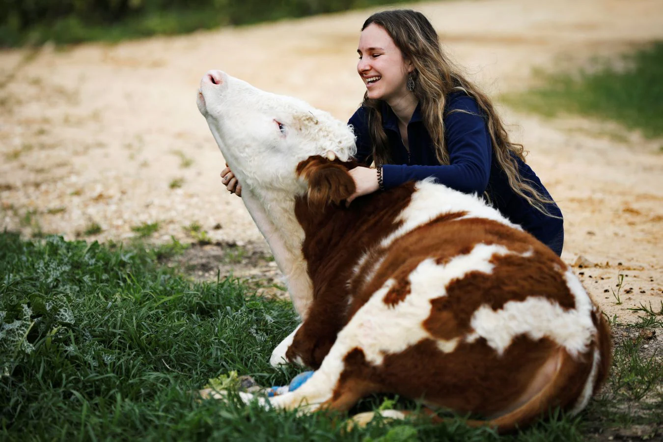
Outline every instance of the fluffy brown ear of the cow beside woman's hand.
<svg viewBox="0 0 663 442"><path fill-rule="evenodd" d="M308 182L309 204L339 204L355 193L355 180L337 159L311 156L298 164L297 174Z"/></svg>

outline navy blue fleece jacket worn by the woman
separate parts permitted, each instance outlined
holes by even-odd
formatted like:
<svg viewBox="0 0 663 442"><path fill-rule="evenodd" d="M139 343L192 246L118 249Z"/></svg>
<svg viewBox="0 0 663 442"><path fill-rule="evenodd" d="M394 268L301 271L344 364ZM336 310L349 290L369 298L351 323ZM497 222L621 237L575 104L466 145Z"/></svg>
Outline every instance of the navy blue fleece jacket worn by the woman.
<svg viewBox="0 0 663 442"><path fill-rule="evenodd" d="M465 112L452 112L456 109ZM408 123L410 156L400 139L398 119L386 103L382 117L394 159L394 164L383 165L385 188L432 176L441 184L461 192L479 195L487 192L493 207L542 243L549 243L562 231L562 219L541 213L513 192L506 174L497 164L485 117L472 97L463 92L448 95L444 115L444 136L450 157L448 166L440 165L436 158L420 107L415 109ZM355 158L369 164L372 161L373 146L367 125L367 109L359 107L348 124L354 128L357 136ZM532 186L542 195L550 197L530 166L518 158L516 162L520 176L530 180ZM562 217L562 212L555 203L548 204L546 208L550 213Z"/></svg>

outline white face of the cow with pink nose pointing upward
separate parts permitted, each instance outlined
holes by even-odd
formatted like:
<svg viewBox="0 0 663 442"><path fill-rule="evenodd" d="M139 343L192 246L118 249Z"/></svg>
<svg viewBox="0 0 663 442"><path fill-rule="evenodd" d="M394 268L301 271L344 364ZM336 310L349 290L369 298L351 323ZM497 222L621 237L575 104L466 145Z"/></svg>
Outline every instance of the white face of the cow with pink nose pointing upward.
<svg viewBox="0 0 663 442"><path fill-rule="evenodd" d="M225 72L202 78L198 109L239 182L257 193L303 192L299 162L313 155L346 161L356 152L351 129L329 113Z"/></svg>

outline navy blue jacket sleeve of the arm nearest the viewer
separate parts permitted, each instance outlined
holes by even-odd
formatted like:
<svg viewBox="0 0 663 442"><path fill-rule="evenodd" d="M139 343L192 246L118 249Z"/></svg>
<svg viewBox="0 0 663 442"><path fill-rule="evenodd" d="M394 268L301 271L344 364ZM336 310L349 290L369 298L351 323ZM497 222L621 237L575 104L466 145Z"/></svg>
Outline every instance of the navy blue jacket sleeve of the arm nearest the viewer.
<svg viewBox="0 0 663 442"><path fill-rule="evenodd" d="M450 103L444 118L450 164L445 166L408 166L385 164L385 188L408 181L433 177L437 182L465 193L483 193L488 186L493 154L485 120L476 101L463 95ZM414 148L423 148L415 146Z"/></svg>

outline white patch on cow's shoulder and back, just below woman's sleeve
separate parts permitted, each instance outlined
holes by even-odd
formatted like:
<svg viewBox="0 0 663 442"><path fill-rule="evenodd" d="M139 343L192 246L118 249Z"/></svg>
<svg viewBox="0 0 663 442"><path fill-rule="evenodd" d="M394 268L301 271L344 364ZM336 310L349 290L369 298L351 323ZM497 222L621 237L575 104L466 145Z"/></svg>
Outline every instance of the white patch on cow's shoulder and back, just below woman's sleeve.
<svg viewBox="0 0 663 442"><path fill-rule="evenodd" d="M445 213L464 211L467 214L459 219L491 219L509 227L522 230L520 226L511 223L497 209L493 209L493 207L487 205L477 195L457 192L442 184L436 184L434 178L427 178L420 181L415 187L416 190L412 193L410 203L394 220L395 223L402 221L402 225L387 238L383 239L381 243L382 247L389 247L396 239Z"/></svg>

